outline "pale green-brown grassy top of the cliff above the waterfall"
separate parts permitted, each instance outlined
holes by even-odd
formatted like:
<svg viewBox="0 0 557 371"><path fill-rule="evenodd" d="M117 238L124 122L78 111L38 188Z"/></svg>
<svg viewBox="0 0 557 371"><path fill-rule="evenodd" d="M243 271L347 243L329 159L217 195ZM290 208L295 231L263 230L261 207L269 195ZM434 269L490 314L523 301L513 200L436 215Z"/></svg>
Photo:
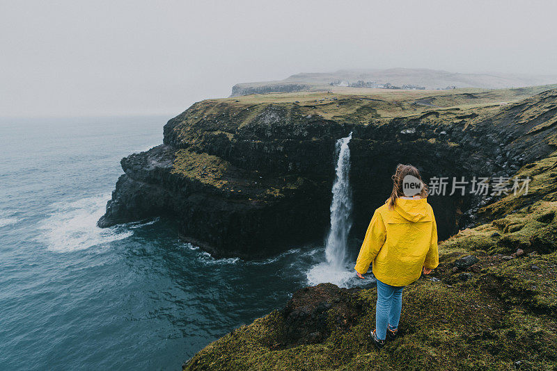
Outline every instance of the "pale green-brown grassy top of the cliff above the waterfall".
<svg viewBox="0 0 557 371"><path fill-rule="evenodd" d="M281 110L283 123L290 125L302 122L308 116L314 119L332 119L339 124L382 124L393 117L419 118L422 124L431 125L462 122L465 118L469 120L469 124L474 124L500 110L499 103L502 99L517 101L549 88L550 85L524 90L464 89L450 92L340 89L336 92L257 94L233 99L207 99L194 104L176 117L178 124L172 130L174 138L184 148L210 141L216 135L223 135L227 140L233 141L239 131L250 124L265 126L265 117L262 119L260 115L270 107ZM434 101L434 105L446 108L416 103L422 100ZM548 110L547 106L535 107L528 108L517 119L524 119L526 122L528 119L540 120L531 129L532 132L547 129L554 124L542 120L542 115Z"/></svg>

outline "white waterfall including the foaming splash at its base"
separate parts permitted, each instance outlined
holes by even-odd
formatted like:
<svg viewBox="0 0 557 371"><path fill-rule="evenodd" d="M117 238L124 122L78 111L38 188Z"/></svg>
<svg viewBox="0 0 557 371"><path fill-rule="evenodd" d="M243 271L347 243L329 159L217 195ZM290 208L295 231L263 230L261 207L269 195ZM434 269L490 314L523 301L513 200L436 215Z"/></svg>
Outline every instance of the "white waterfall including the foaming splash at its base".
<svg viewBox="0 0 557 371"><path fill-rule="evenodd" d="M352 227L352 190L350 189L350 148L352 133L336 141L335 180L331 201L331 229L325 243L325 261L311 267L307 273L311 285L331 282L347 286L354 279L352 264L346 261L348 233Z"/></svg>

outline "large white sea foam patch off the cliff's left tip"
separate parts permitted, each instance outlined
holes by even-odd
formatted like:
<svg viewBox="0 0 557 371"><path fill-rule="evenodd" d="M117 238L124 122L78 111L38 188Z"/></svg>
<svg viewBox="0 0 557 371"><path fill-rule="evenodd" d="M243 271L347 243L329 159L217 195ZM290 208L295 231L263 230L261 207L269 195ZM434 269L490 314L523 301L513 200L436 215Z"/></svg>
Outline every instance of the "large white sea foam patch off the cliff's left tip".
<svg viewBox="0 0 557 371"><path fill-rule="evenodd" d="M72 252L132 236L126 226L97 227L109 198L101 195L52 204L52 214L39 223L38 239L52 252Z"/></svg>

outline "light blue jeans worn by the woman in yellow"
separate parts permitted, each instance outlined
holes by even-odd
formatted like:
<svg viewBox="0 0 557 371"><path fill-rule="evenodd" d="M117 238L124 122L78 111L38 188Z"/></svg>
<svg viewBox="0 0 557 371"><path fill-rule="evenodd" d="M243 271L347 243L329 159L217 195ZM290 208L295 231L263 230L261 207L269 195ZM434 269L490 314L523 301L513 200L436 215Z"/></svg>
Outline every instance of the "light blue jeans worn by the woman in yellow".
<svg viewBox="0 0 557 371"><path fill-rule="evenodd" d="M402 289L405 286L391 286L377 279L377 305L375 306L375 335L385 340L387 325L394 330L398 327L402 310Z"/></svg>

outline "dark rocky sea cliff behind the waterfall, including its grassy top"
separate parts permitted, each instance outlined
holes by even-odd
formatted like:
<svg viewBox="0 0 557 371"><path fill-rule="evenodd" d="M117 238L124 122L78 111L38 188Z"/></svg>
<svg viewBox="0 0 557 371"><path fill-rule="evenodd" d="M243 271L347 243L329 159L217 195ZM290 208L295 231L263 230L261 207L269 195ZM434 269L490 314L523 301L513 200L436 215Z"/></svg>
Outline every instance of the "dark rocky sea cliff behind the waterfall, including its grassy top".
<svg viewBox="0 0 557 371"><path fill-rule="evenodd" d="M556 90L504 106L447 109L419 106L411 96L293 100L194 104L164 126L163 145L123 158L125 174L98 225L163 215L212 254L256 258L324 237L334 145L351 131L354 236L363 236L388 197L398 163L416 165L426 181L512 175L554 148ZM441 238L475 222L470 215L493 201L429 199Z"/></svg>

